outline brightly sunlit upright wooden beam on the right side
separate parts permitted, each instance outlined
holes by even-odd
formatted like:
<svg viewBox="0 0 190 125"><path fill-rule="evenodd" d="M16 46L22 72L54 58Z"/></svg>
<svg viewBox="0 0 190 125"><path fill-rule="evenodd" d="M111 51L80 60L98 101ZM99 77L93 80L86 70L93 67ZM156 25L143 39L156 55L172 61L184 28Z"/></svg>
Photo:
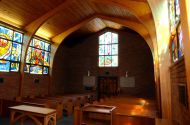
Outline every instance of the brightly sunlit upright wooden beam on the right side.
<svg viewBox="0 0 190 125"><path fill-rule="evenodd" d="M147 0L155 23L155 32L157 45L155 51L155 78L158 105L163 118L172 118L172 102L171 102L171 82L170 82L170 54L169 54L169 21L168 21L168 1L165 0Z"/></svg>

